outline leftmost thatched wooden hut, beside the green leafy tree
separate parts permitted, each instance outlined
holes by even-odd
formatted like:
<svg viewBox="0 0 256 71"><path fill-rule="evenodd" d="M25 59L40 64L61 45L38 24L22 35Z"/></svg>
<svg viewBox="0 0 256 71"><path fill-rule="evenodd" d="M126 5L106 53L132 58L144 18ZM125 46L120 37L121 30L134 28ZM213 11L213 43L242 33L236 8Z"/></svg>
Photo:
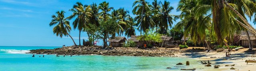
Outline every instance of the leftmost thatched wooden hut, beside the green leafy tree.
<svg viewBox="0 0 256 71"><path fill-rule="evenodd" d="M125 37L114 37L108 39L108 42L110 42L110 46L112 47L121 47L122 44L126 41Z"/></svg>

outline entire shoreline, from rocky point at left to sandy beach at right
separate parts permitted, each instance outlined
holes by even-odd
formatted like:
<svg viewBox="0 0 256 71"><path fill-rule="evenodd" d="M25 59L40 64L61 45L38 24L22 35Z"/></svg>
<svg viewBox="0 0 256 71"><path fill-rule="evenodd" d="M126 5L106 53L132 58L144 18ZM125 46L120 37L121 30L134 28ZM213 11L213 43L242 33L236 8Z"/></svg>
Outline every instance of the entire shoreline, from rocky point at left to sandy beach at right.
<svg viewBox="0 0 256 71"><path fill-rule="evenodd" d="M71 50L71 51L70 51ZM81 52L76 52L81 50ZM84 51L83 51L84 50ZM52 50L39 49L30 50L31 54L58 54L58 55L99 55L99 56L132 56L132 57L180 57L180 58L192 58L200 61L209 60L212 64L208 69L203 70L213 70L213 71L248 71L256 70L256 63L246 64L246 59L256 59L254 52L245 52L248 48L240 49L238 51L231 51L230 57L226 57L225 53L227 49L222 52L216 52L207 50L203 47L189 47L186 49L179 48L100 48L100 47L83 47L83 46L70 46L63 48L56 48ZM255 50L255 49L254 49ZM134 54L136 53L136 54ZM214 58L215 57L215 58ZM184 62L182 62L184 63ZM235 65L235 66L225 66L225 65ZM202 64L204 67L205 64ZM219 68L215 69L214 65L220 65ZM235 69L230 69L234 67ZM254 68L255 67L255 68Z"/></svg>

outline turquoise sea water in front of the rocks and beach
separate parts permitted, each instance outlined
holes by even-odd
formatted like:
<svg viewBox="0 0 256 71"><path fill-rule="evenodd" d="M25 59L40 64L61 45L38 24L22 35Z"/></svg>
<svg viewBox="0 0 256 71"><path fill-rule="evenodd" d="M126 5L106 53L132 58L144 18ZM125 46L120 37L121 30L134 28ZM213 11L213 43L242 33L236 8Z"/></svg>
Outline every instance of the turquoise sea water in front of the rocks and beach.
<svg viewBox="0 0 256 71"><path fill-rule="evenodd" d="M58 47L0 46L0 71L164 71L202 68L192 58L131 57L131 56L60 56L24 54L32 49ZM41 56L41 57L39 57ZM190 65L176 65L179 62ZM172 67L172 69L166 69Z"/></svg>

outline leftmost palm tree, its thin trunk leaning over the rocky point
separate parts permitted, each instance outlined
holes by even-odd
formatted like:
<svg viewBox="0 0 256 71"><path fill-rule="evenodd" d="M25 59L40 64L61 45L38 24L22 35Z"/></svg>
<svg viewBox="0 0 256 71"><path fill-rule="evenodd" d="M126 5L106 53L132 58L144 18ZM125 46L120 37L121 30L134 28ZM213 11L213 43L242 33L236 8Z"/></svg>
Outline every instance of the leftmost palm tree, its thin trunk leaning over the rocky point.
<svg viewBox="0 0 256 71"><path fill-rule="evenodd" d="M56 34L56 36L60 36L60 38L62 38L62 36L70 36L68 33L71 30L71 27L69 25L69 21L67 21L67 18L64 17L64 11L61 12L56 12L56 15L52 15L52 21L50 23L50 26L56 25L53 28L53 33ZM73 40L74 45L76 46L76 43L74 41L74 39L70 36L70 38Z"/></svg>

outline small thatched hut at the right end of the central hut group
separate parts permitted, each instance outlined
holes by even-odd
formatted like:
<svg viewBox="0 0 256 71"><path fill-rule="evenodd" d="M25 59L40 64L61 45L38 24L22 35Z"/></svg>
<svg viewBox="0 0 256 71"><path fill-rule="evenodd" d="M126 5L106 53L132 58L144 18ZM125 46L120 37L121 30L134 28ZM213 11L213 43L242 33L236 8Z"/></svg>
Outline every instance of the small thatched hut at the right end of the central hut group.
<svg viewBox="0 0 256 71"><path fill-rule="evenodd" d="M170 42L172 41L173 38L170 36L164 35L164 36L161 36L161 39L163 42L159 42L158 46L159 47L169 47L168 44L171 44Z"/></svg>

